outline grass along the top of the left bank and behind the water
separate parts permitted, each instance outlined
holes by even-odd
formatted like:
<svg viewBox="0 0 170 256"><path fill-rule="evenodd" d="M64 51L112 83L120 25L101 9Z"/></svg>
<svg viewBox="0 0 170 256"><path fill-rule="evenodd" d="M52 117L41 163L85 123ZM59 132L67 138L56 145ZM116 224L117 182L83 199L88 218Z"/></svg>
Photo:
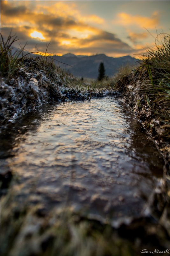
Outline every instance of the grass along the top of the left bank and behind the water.
<svg viewBox="0 0 170 256"><path fill-rule="evenodd" d="M61 69L59 65L55 65L53 58L47 54L50 43L46 45L45 54L42 54L39 53L38 49L36 49L36 52L25 52L26 44L20 49L14 50L13 44L16 41L18 41L17 36L11 36L11 34L8 36L7 40L4 41L1 34L1 76L5 77L7 80L17 76L17 72L20 68L26 66L30 72L32 72L32 70L43 71L49 78L50 84L52 81L57 85L62 84L64 87L91 94L91 92L97 92L102 89L113 90L117 80L131 70L130 65L126 65L125 67L119 68L114 77L105 77L102 81L94 79L82 80L68 74L66 70ZM38 53L38 55L32 57L32 53ZM57 88L52 84L50 86L50 84L49 91L54 95L56 94Z"/></svg>

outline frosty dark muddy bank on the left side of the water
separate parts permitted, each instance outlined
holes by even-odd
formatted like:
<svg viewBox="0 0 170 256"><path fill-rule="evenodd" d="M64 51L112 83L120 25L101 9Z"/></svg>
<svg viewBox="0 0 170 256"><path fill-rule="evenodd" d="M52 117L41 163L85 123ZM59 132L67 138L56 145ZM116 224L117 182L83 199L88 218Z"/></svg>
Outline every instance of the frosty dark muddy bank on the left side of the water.
<svg viewBox="0 0 170 256"><path fill-rule="evenodd" d="M90 84L68 75L59 67L51 66L50 63L42 63L39 58L30 58L24 60L24 66L15 76L1 77L1 124L46 103L89 100L91 97L115 94L104 88L94 91Z"/></svg>

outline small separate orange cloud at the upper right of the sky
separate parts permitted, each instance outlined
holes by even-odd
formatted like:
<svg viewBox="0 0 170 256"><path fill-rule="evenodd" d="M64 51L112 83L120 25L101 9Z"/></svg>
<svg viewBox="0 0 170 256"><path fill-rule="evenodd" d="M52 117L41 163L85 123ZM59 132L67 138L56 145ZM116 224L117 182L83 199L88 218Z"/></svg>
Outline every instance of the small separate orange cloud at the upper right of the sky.
<svg viewBox="0 0 170 256"><path fill-rule="evenodd" d="M140 28L152 29L159 24L159 14L154 12L151 17L132 16L128 13L121 12L118 15L118 23L124 26L137 25Z"/></svg>

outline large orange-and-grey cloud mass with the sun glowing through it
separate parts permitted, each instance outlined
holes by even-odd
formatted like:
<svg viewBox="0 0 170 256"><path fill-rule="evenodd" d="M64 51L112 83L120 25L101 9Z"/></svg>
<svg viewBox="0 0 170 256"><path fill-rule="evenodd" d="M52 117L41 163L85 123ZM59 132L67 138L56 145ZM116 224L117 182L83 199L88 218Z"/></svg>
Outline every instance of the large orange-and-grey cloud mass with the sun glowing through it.
<svg viewBox="0 0 170 256"><path fill-rule="evenodd" d="M40 5L41 2L31 8L30 5L20 5L16 2L1 1L1 31L7 37L12 33L18 36L22 45L27 42L27 49L35 51L38 47L40 52L46 51L46 44L49 45L50 53L93 55L105 53L110 56L124 56L134 52L134 49L127 43L121 41L116 34L109 33L96 28L96 24L104 22L96 15L83 16L76 9L75 4L65 2L51 2L51 6ZM18 3L18 2L17 2ZM13 13L13 15L11 15ZM92 22L94 25L92 26ZM32 32L37 31L45 38L44 41L32 38ZM135 40L134 35L130 35ZM37 46L36 46L37 45Z"/></svg>

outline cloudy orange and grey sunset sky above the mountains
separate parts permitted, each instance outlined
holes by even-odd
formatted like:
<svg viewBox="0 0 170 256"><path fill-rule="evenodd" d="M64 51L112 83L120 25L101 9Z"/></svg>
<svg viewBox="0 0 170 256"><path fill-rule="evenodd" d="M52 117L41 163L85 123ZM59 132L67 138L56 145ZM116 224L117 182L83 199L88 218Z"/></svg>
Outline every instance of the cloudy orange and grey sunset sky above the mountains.
<svg viewBox="0 0 170 256"><path fill-rule="evenodd" d="M1 34L31 52L140 58L162 32L170 34L169 0L1 1Z"/></svg>

